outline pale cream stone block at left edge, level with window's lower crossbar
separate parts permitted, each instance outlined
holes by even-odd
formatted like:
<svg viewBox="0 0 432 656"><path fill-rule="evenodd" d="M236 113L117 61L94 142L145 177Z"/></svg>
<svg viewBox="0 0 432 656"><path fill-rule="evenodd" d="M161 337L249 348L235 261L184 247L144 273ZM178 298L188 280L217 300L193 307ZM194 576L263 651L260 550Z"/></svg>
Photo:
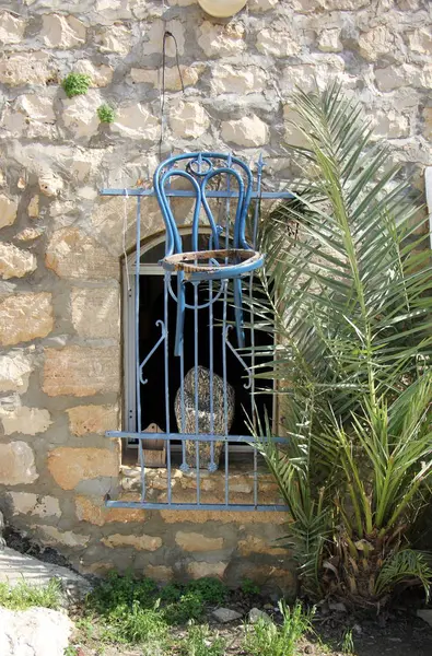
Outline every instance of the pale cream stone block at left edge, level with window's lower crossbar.
<svg viewBox="0 0 432 656"><path fill-rule="evenodd" d="M25 442L0 444L0 484L25 485L38 478L35 457Z"/></svg>

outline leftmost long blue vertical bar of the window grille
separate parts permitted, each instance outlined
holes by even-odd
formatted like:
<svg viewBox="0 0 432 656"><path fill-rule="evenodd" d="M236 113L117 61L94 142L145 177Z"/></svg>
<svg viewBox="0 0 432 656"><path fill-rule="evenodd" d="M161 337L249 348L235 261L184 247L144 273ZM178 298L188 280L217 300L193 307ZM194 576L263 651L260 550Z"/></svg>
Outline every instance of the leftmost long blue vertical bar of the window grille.
<svg viewBox="0 0 432 656"><path fill-rule="evenodd" d="M141 260L141 197L137 197L136 226L136 262L135 262L135 360L137 386L137 432L141 433L141 378L140 378L140 260ZM138 455L141 469L141 501L145 501L145 462L142 440L138 441Z"/></svg>

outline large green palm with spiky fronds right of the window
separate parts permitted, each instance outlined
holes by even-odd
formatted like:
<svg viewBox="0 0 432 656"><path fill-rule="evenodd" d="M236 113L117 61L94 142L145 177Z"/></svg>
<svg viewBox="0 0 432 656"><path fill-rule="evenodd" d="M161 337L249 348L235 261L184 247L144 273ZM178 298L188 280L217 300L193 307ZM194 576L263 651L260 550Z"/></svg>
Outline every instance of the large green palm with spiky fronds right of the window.
<svg viewBox="0 0 432 656"><path fill-rule="evenodd" d="M255 305L275 332L280 448L260 450L290 507L305 591L382 608L432 570L410 542L431 499L432 295L427 218L339 85L297 92L293 148L307 172L264 221ZM271 373L268 358L271 355Z"/></svg>

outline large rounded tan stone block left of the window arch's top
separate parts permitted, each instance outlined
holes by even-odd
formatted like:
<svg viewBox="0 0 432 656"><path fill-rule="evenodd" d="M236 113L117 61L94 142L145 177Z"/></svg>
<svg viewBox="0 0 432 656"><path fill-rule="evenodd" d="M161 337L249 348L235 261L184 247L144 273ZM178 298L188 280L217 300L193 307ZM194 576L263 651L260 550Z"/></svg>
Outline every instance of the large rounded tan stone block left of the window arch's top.
<svg viewBox="0 0 432 656"><path fill-rule="evenodd" d="M117 258L77 227L65 227L52 234L45 263L60 278L107 280L119 277Z"/></svg>

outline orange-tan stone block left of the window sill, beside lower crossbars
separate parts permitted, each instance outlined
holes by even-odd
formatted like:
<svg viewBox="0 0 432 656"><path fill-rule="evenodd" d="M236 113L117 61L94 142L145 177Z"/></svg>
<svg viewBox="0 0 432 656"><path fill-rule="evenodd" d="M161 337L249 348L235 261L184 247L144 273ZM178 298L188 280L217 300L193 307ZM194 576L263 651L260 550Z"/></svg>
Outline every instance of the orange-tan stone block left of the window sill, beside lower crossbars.
<svg viewBox="0 0 432 656"><path fill-rule="evenodd" d="M47 465L60 488L73 490L83 480L117 477L120 461L116 450L60 446L49 452Z"/></svg>

